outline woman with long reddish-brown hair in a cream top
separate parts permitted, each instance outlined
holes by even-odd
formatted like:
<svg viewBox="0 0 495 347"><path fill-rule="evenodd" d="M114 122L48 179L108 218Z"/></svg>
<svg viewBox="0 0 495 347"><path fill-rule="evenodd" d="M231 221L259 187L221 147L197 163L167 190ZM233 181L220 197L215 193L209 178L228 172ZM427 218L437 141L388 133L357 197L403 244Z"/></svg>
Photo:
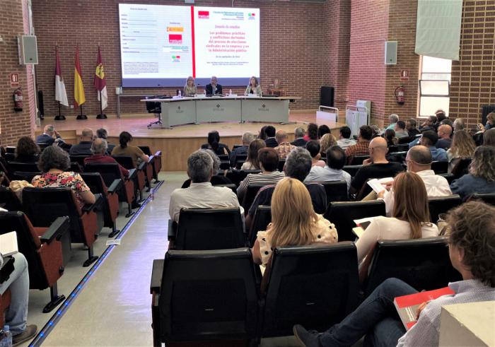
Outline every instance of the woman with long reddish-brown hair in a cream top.
<svg viewBox="0 0 495 347"><path fill-rule="evenodd" d="M419 175L402 172L392 185L395 204L392 217L375 218L356 242L358 261L366 258L378 240L407 240L438 236L438 228L430 223L428 195Z"/></svg>

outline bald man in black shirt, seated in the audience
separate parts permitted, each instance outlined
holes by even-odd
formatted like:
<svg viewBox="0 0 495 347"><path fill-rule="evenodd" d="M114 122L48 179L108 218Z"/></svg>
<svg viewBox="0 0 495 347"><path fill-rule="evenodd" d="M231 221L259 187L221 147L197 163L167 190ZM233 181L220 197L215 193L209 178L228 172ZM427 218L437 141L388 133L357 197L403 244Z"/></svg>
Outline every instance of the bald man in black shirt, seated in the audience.
<svg viewBox="0 0 495 347"><path fill-rule="evenodd" d="M363 161L363 166L356 172L351 181L350 194L358 193L366 181L370 178L394 177L404 170L402 164L389 162L385 155L388 152L387 141L381 137L375 137L368 143L370 158Z"/></svg>

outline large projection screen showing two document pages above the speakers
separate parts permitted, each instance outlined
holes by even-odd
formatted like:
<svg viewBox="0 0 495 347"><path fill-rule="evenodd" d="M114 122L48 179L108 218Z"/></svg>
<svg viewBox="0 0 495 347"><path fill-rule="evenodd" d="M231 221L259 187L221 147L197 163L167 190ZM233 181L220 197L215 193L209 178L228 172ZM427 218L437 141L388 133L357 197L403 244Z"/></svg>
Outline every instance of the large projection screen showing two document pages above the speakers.
<svg viewBox="0 0 495 347"><path fill-rule="evenodd" d="M123 87L224 86L260 76L260 9L119 4Z"/></svg>

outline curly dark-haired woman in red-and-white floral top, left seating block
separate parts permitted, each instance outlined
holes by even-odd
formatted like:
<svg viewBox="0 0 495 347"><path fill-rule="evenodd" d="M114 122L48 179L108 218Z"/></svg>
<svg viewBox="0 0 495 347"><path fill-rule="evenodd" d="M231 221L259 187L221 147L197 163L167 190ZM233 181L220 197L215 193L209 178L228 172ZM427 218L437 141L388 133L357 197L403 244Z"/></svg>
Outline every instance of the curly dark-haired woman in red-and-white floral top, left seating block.
<svg viewBox="0 0 495 347"><path fill-rule="evenodd" d="M40 188L69 187L74 192L79 206L94 204L96 199L81 175L66 171L71 167L71 160L62 148L49 146L40 155L37 167L42 175L33 177L31 184Z"/></svg>

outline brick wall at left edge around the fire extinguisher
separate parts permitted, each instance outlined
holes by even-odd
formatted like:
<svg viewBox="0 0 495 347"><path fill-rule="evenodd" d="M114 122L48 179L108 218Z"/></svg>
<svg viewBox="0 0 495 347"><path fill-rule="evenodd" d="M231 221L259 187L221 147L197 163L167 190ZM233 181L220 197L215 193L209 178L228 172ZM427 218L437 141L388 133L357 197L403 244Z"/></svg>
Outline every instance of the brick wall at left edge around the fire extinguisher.
<svg viewBox="0 0 495 347"><path fill-rule="evenodd" d="M24 15L24 16L23 16ZM19 65L17 35L28 33L28 1L0 1L0 143L13 145L20 136L32 136L35 121L33 76L30 67ZM14 112L9 74L18 73L23 89L23 111Z"/></svg>

